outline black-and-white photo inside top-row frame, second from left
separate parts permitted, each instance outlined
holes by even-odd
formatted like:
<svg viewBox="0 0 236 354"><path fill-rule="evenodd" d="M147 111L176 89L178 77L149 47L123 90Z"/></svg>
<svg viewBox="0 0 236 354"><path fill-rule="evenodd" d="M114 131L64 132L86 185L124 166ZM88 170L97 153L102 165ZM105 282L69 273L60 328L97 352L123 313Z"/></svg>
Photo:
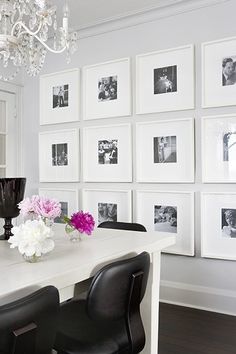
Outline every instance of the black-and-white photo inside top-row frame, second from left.
<svg viewBox="0 0 236 354"><path fill-rule="evenodd" d="M117 99L117 75L103 77L98 81L98 101L111 101Z"/></svg>

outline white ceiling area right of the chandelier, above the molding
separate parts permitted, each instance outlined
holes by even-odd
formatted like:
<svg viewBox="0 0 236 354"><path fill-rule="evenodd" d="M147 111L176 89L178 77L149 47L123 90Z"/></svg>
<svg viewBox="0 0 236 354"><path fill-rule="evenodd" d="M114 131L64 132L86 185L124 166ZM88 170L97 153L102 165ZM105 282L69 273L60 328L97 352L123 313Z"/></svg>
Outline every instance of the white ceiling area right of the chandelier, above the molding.
<svg viewBox="0 0 236 354"><path fill-rule="evenodd" d="M70 27L73 30L90 27L111 19L161 8L190 0L68 0ZM57 8L63 7L64 0L54 0Z"/></svg>

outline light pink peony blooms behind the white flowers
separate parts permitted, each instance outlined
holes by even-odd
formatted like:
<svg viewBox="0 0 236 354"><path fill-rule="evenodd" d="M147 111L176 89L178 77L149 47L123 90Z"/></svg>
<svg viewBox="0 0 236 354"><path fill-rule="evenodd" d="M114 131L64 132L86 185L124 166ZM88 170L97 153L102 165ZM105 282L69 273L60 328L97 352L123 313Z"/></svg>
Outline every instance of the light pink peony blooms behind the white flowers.
<svg viewBox="0 0 236 354"><path fill-rule="evenodd" d="M49 199L33 195L31 198L22 200L18 207L20 214L25 219L42 218L47 226L52 226L54 219L61 215L61 204L56 199Z"/></svg>

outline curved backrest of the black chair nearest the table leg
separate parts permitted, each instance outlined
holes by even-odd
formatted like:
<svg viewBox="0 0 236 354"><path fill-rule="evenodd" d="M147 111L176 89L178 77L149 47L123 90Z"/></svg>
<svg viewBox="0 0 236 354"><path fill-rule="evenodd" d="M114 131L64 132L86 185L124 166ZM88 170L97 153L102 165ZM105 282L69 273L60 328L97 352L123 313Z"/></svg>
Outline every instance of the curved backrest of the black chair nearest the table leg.
<svg viewBox="0 0 236 354"><path fill-rule="evenodd" d="M145 345L140 303L145 294L150 256L138 256L106 265L94 276L87 295L87 312L96 321L124 319L132 350L138 353Z"/></svg>

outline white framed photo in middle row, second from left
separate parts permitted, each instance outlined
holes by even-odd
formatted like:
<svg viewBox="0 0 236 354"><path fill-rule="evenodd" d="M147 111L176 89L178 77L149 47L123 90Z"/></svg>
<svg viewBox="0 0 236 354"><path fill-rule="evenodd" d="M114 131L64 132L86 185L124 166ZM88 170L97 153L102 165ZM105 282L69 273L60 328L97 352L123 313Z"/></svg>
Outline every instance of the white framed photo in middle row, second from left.
<svg viewBox="0 0 236 354"><path fill-rule="evenodd" d="M83 129L83 180L132 181L130 124L92 126Z"/></svg>

